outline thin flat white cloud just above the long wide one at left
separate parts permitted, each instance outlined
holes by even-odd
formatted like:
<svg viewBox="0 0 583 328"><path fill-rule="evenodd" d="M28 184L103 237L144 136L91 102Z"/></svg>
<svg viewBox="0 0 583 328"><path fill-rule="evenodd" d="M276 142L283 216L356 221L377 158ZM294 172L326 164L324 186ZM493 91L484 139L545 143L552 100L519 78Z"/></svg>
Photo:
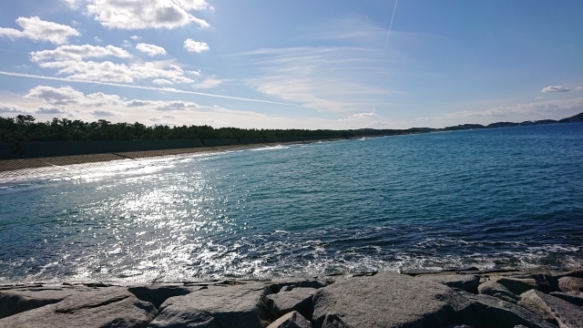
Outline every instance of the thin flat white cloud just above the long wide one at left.
<svg viewBox="0 0 583 328"><path fill-rule="evenodd" d="M81 60L86 57L117 56L120 58L129 58L131 55L128 51L117 46L58 46L55 50L33 51L30 58L34 62L42 60L64 60L74 59Z"/></svg>

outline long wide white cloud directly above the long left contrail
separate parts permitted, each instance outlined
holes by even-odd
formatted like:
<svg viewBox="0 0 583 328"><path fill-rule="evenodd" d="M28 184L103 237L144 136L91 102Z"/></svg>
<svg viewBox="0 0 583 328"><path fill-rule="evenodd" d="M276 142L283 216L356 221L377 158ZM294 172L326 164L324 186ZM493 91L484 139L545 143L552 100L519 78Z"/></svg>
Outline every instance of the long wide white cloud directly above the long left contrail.
<svg viewBox="0 0 583 328"><path fill-rule="evenodd" d="M134 79L171 79L183 75L181 69L177 69L174 65L168 66L167 62L146 62L127 66L125 64L114 64L110 61L85 62L64 60L57 62L42 62L39 66L43 68L56 68L58 69L58 74L66 75L67 78L87 81L130 83L133 82ZM165 69L166 67L170 67L171 69Z"/></svg>

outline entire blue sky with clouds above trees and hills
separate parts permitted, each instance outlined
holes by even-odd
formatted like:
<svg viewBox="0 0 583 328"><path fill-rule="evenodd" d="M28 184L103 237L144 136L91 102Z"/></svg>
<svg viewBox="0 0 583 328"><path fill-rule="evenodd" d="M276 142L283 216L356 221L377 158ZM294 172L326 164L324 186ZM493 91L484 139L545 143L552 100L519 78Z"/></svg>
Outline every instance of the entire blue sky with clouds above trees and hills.
<svg viewBox="0 0 583 328"><path fill-rule="evenodd" d="M580 0L2 1L0 116L311 129L567 118L583 112L582 15Z"/></svg>

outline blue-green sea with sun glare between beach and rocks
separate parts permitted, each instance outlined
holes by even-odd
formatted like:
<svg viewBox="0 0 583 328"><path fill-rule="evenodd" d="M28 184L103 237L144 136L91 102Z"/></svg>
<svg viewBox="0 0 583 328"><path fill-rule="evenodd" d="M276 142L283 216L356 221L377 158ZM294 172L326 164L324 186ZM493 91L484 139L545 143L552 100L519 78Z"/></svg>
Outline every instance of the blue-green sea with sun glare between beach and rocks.
<svg viewBox="0 0 583 328"><path fill-rule="evenodd" d="M29 169L0 283L583 267L583 124Z"/></svg>

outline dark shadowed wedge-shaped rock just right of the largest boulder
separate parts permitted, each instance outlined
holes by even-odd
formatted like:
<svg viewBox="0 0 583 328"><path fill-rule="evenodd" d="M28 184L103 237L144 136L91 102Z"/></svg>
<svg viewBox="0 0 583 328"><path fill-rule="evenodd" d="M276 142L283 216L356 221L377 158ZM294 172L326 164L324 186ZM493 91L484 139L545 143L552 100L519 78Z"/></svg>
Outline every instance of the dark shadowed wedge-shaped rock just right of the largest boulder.
<svg viewBox="0 0 583 328"><path fill-rule="evenodd" d="M514 327L519 324L530 328L557 328L547 323L539 315L511 302L500 301L496 297L469 292L460 292L471 303L479 325L473 327Z"/></svg>

